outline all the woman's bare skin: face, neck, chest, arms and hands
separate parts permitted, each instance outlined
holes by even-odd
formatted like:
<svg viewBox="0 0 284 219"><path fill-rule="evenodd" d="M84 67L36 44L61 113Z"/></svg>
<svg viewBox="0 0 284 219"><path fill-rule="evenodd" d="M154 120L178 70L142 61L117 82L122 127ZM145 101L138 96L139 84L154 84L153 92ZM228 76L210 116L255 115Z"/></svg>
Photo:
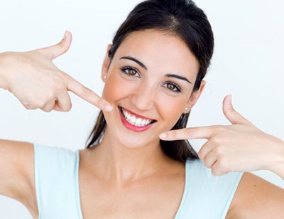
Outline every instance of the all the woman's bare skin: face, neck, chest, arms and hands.
<svg viewBox="0 0 284 219"><path fill-rule="evenodd" d="M51 62L65 53L70 43L71 34L67 33L55 46L26 53L1 53L0 87L12 92L29 110L68 111L71 102L67 91L104 110L109 125L102 143L80 151L80 199L84 218L125 218L129 209L137 213L129 215L130 218L173 218L182 198L185 166L165 156L158 141L159 134L170 130L180 114L187 112L185 107L195 105L204 88L202 82L200 90L192 92L198 70L195 57L177 36L157 31L133 33L121 44L110 65L107 55L104 59L102 80L105 86L101 98ZM148 70L131 60L120 59L129 55L141 60ZM12 64L15 61L18 68ZM121 67L124 65L137 68L141 77L129 79L123 75ZM36 74L39 71L43 73L41 78ZM167 73L183 75L192 85L165 78ZM35 80L36 83L31 83ZM183 92L177 94L168 90L169 87L165 87L168 80L178 83ZM30 89L21 89L23 86ZM41 87L51 92L47 94ZM230 100L228 96L223 102L230 126L180 129L166 132L168 137L160 135L160 138L208 139L199 156L216 176L228 171L267 169L283 178L283 141L254 127L234 110ZM111 112L105 108L109 103L114 109ZM120 123L117 105L158 122L146 132L134 133ZM21 201L37 218L32 144L0 140L0 145L0 166L13 166L12 170L0 169L2 178L10 179L1 181L0 178L0 193ZM16 159L15 154L18 154ZM98 196L100 200L94 200ZM149 196L153 200L151 205ZM244 173L226 218L284 218L283 209L282 188Z"/></svg>

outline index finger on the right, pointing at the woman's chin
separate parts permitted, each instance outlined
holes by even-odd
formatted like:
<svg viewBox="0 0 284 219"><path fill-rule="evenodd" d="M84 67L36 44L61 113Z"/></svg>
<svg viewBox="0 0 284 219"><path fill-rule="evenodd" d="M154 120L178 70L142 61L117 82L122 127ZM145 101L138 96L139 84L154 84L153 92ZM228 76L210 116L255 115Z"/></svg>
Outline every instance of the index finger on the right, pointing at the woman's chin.
<svg viewBox="0 0 284 219"><path fill-rule="evenodd" d="M184 139L209 139L212 136L214 126L193 127L185 129L175 129L160 134L160 139L165 141L175 141Z"/></svg>

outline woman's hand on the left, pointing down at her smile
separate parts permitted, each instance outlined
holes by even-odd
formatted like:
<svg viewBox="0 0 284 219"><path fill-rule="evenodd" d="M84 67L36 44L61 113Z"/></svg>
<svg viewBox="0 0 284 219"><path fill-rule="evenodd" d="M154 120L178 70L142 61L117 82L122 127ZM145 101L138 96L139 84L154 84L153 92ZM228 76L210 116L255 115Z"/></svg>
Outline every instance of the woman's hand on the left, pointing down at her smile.
<svg viewBox="0 0 284 219"><path fill-rule="evenodd" d="M104 111L112 107L102 97L58 69L53 60L67 52L72 35L66 31L60 43L28 52L6 52L0 54L1 87L15 95L28 110L40 108L45 112L71 109L68 91Z"/></svg>

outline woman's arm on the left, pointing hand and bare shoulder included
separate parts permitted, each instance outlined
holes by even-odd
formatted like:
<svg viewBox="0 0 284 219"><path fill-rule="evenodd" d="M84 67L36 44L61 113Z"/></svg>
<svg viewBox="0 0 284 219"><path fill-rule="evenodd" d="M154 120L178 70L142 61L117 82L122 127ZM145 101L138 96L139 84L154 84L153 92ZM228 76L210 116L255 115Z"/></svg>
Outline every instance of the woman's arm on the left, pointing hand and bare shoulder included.
<svg viewBox="0 0 284 219"><path fill-rule="evenodd" d="M68 50L71 38L71 33L67 32L55 46L22 53L0 53L0 88L13 93L28 110L69 111L68 92L71 91L100 109L111 111L106 100L53 64L55 58ZM20 201L35 217L38 211L33 154L33 144L0 139L0 194Z"/></svg>

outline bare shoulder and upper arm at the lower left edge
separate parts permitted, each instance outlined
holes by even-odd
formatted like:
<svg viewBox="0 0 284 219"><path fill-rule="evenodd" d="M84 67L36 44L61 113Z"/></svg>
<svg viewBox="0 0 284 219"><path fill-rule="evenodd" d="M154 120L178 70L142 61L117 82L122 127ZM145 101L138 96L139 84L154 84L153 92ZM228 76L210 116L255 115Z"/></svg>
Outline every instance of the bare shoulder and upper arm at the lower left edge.
<svg viewBox="0 0 284 219"><path fill-rule="evenodd" d="M0 194L36 212L33 144L0 139Z"/></svg>

